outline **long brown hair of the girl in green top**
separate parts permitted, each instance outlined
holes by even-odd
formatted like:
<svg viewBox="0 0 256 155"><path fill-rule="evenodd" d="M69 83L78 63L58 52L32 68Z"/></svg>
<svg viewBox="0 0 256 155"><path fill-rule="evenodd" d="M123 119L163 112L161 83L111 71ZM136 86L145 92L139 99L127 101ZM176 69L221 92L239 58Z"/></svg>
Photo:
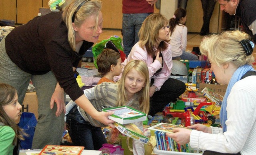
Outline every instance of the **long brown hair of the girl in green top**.
<svg viewBox="0 0 256 155"><path fill-rule="evenodd" d="M3 106L8 105L13 102L15 99L17 90L10 86L9 84L0 83L0 122L3 123L5 126L10 126L14 132L15 137L12 142L14 146L17 146L18 139L24 140L23 136L27 136L26 133L24 133L23 129L19 128L14 120L12 120L4 111Z"/></svg>

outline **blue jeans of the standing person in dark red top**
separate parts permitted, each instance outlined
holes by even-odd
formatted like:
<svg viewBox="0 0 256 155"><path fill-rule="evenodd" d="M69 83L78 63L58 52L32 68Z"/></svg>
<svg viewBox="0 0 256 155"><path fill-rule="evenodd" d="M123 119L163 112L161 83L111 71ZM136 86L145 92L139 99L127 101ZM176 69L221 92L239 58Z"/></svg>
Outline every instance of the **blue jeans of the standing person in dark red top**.
<svg viewBox="0 0 256 155"><path fill-rule="evenodd" d="M139 30L143 21L151 13L143 14L123 14L122 31L123 31L123 44L124 53L129 55L132 47L139 41Z"/></svg>

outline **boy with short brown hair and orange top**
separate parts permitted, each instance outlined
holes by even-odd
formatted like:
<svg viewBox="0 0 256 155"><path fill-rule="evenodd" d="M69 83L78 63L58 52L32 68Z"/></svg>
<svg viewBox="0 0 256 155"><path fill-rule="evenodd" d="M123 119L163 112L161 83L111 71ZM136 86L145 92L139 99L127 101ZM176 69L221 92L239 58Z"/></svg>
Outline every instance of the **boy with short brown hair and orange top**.
<svg viewBox="0 0 256 155"><path fill-rule="evenodd" d="M102 82L114 82L113 77L122 72L122 60L120 53L113 49L104 49L97 57L98 72L103 76L98 84Z"/></svg>

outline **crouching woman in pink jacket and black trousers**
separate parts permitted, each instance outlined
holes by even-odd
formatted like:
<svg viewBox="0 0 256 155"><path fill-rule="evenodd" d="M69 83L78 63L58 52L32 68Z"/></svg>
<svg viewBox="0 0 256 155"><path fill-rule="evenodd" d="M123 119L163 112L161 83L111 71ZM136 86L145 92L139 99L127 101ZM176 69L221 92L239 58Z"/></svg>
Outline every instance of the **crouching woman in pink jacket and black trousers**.
<svg viewBox="0 0 256 155"><path fill-rule="evenodd" d="M185 91L185 84L170 78L172 72L172 48L168 43L168 20L159 13L149 15L139 31L139 42L136 43L122 63L138 59L148 65L150 86L150 112L154 116L170 102L174 102Z"/></svg>

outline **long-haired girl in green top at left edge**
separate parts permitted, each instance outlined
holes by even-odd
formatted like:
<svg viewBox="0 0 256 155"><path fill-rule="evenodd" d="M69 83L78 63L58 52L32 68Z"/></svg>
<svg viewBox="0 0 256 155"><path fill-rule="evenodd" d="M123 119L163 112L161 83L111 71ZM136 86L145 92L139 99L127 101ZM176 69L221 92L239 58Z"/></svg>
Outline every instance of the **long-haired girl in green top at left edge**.
<svg viewBox="0 0 256 155"><path fill-rule="evenodd" d="M22 106L17 90L8 84L0 83L0 96L0 154L18 155L19 141L26 135L15 123Z"/></svg>

